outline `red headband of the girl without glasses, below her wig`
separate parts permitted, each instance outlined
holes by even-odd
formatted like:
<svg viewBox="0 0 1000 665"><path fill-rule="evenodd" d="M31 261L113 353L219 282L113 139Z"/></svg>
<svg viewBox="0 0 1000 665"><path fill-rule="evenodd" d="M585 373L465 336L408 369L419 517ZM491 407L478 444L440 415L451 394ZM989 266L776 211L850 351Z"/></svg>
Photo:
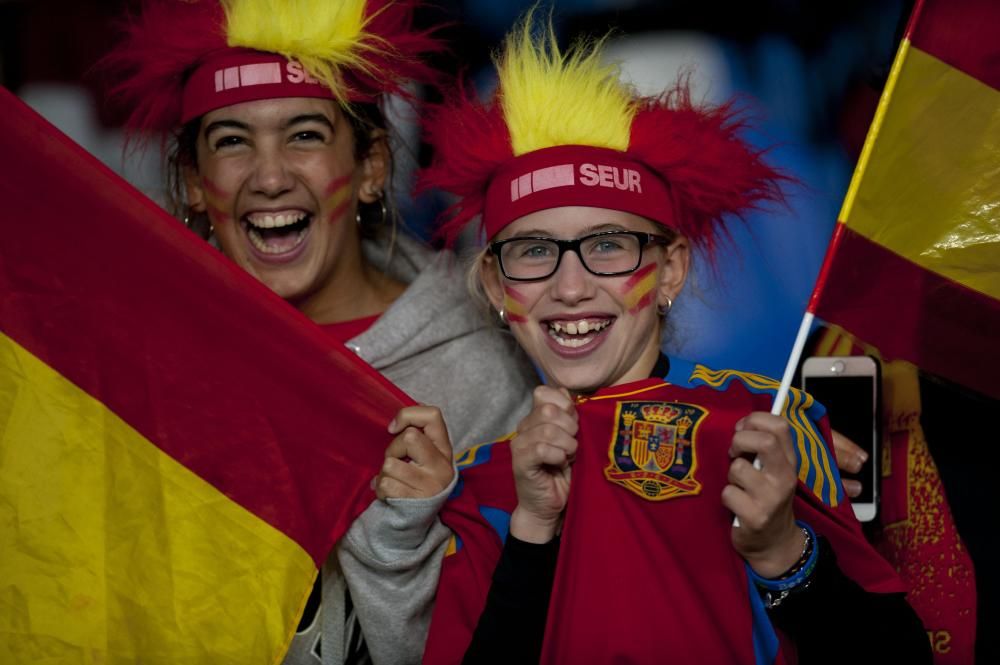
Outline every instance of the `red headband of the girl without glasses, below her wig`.
<svg viewBox="0 0 1000 665"><path fill-rule="evenodd" d="M249 49L219 51L184 85L181 124L224 106L281 97L334 99L330 89L295 60Z"/></svg>

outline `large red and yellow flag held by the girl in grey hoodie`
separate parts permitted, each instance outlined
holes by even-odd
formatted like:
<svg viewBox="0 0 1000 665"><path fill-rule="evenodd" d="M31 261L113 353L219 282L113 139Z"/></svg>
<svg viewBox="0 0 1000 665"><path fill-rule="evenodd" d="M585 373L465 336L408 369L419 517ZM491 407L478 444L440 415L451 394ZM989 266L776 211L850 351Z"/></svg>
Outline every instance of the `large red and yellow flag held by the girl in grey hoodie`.
<svg viewBox="0 0 1000 665"><path fill-rule="evenodd" d="M0 118L0 662L278 662L409 398Z"/></svg>

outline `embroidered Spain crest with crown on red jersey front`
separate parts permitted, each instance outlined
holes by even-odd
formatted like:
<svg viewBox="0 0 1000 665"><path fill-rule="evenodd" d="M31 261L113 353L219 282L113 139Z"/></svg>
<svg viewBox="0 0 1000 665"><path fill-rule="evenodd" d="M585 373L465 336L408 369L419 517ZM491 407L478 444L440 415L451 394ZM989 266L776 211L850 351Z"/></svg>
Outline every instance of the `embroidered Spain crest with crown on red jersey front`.
<svg viewBox="0 0 1000 665"><path fill-rule="evenodd" d="M695 434L707 414L680 402L619 402L605 477L648 501L698 494Z"/></svg>

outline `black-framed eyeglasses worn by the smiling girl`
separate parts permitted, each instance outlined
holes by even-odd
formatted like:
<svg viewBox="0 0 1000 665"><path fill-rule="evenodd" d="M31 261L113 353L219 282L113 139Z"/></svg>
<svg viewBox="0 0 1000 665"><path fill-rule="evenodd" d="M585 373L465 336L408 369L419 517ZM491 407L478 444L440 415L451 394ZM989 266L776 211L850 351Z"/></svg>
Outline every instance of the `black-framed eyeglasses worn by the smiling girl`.
<svg viewBox="0 0 1000 665"><path fill-rule="evenodd" d="M601 231L574 240L508 238L490 243L504 277L518 282L546 279L555 274L563 254L576 252L588 272L601 277L627 275L642 263L646 245L669 245L666 236L641 231Z"/></svg>

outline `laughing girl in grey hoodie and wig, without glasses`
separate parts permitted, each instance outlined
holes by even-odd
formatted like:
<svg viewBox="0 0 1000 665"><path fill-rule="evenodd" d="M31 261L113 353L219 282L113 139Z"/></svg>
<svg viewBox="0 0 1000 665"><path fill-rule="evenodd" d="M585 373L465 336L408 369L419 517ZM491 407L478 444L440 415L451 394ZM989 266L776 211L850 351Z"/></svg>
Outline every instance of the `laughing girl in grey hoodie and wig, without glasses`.
<svg viewBox="0 0 1000 665"><path fill-rule="evenodd" d="M443 405L462 450L513 429L535 375L483 325L454 257L396 229L381 108L434 79L420 57L439 48L412 28L414 4L148 0L108 63L132 131L169 137L175 212L331 343ZM384 447L385 465L286 662L419 661L448 537L436 514L455 482L450 445L422 433L435 427L414 407L385 441L357 442ZM337 434L316 432L316 446Z"/></svg>

